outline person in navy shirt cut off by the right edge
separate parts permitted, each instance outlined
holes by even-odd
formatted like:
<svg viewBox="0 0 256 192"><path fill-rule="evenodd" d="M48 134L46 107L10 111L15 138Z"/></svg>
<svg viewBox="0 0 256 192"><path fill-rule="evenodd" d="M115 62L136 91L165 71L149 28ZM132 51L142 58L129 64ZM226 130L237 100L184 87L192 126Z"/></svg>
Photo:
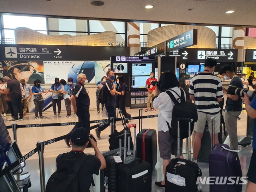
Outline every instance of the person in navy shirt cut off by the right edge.
<svg viewBox="0 0 256 192"><path fill-rule="evenodd" d="M244 93L244 97L242 100L246 106L246 112L250 118L254 119L254 127L253 127L253 138L252 138L252 157L250 161L250 166L248 169L247 177L248 184L246 188L246 192L254 192L256 188L256 97L253 98L252 102L249 101L248 96Z"/></svg>

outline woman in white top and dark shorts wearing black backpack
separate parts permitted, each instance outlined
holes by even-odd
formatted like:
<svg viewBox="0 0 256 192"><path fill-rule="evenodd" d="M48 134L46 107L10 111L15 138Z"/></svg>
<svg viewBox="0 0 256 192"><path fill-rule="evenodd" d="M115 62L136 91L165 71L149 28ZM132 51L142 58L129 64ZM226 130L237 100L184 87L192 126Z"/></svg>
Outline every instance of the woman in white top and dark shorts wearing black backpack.
<svg viewBox="0 0 256 192"><path fill-rule="evenodd" d="M179 88L180 84L176 78L176 75L172 71L164 72L160 76L159 83L156 85L156 98L153 100L154 108L159 108L158 112L158 145L160 157L163 159L163 172L164 172L164 180L161 182L155 182L155 185L158 188L165 187L165 174L166 174L166 166L171 161L171 155L175 155L177 158L177 138L173 138L169 133L169 125L171 125L172 121L172 110L174 106L174 102L172 102L170 96L166 93L166 91L172 89L179 95L181 95L181 90ZM159 91L160 90L160 91ZM183 90L184 91L184 90ZM161 93L160 93L161 92ZM160 93L160 94L159 94ZM175 98L178 98L176 94L174 94ZM186 94L184 92L184 96L186 99ZM167 121L167 122L166 122ZM182 156L182 140L180 140L180 158Z"/></svg>

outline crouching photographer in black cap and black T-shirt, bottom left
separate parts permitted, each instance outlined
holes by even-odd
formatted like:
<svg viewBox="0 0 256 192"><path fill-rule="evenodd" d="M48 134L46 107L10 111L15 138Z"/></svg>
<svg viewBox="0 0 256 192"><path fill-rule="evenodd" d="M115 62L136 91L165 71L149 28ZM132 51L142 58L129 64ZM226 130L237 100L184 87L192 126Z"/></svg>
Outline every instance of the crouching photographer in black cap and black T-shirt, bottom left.
<svg viewBox="0 0 256 192"><path fill-rule="evenodd" d="M89 142L92 144L95 156L84 153L84 149ZM69 143L72 146L72 150L64 154L59 154L56 158L57 171L64 167L68 167L70 169L74 168L74 166L76 166L76 162L82 158L84 162L77 174L79 185L78 191L90 192L89 189L93 181L92 175L98 175L99 170L106 168L105 158L98 149L94 136L89 134L89 132L82 127L76 128L72 132Z"/></svg>

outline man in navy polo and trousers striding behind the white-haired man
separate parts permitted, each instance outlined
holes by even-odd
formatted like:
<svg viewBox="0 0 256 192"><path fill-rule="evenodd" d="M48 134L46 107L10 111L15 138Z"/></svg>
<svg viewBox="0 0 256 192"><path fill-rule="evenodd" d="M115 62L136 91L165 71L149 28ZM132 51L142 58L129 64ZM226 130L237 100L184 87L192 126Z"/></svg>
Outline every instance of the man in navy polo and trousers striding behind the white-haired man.
<svg viewBox="0 0 256 192"><path fill-rule="evenodd" d="M114 118L114 131L116 131L116 85L113 84L115 79L115 74L113 70L108 70L106 73L108 79L104 83L104 96L106 96L105 107L108 112L108 124L99 126L96 131L96 136L100 139L100 132L106 129L110 125L110 117Z"/></svg>

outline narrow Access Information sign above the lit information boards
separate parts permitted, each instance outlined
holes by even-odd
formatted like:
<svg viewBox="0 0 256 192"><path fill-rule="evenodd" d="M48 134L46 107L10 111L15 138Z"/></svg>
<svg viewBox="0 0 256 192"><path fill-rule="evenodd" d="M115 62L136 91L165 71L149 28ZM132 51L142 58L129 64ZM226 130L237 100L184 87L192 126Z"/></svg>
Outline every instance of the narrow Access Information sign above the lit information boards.
<svg viewBox="0 0 256 192"><path fill-rule="evenodd" d="M140 57L140 56L112 56L111 61L112 62L154 62L155 58L154 57Z"/></svg>

